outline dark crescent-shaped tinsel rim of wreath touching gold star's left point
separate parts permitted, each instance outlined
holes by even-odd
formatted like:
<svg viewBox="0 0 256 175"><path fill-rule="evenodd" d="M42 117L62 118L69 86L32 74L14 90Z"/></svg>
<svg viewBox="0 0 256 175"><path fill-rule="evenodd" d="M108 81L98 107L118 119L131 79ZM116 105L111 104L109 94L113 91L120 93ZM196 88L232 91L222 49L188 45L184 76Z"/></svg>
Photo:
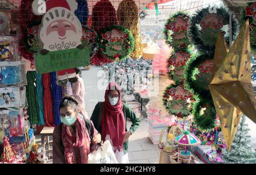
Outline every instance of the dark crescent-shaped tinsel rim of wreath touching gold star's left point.
<svg viewBox="0 0 256 175"><path fill-rule="evenodd" d="M213 60L212 58L213 56L208 55L200 55L199 57L192 56L191 59L187 62L184 70L185 87L191 91L191 93L199 95L200 98L204 99L212 98L210 90L200 87L194 75L196 69L202 62L208 59Z"/></svg>

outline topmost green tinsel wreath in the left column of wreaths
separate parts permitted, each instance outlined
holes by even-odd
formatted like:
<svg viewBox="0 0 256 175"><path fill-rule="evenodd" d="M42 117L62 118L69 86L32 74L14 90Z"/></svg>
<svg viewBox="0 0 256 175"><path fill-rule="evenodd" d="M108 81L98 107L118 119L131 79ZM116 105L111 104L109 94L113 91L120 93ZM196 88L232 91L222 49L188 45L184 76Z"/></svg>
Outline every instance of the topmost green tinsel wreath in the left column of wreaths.
<svg viewBox="0 0 256 175"><path fill-rule="evenodd" d="M186 48L190 42L188 39L188 35L187 35L187 30L188 30L188 26L186 26L184 28L184 30L181 30L179 32L174 32L171 31L170 29L168 29L168 26L170 23L176 23L176 19L178 17L182 17L183 19L187 19L189 20L190 17L186 12L181 12L178 11L175 14L171 15L170 18L167 19L167 22L164 24L164 39L166 40L166 43L169 44L171 47L173 47L174 49L180 49L181 47ZM172 39L172 34L176 33L176 34L181 34L181 32L184 32L185 34L185 38L184 39Z"/></svg>

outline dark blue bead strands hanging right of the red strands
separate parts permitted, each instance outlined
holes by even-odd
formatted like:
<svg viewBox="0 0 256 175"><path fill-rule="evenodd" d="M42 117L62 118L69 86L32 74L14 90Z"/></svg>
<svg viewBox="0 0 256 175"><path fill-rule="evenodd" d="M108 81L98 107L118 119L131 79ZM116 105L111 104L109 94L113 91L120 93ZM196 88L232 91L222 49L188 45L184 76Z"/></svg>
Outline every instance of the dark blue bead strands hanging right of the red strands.
<svg viewBox="0 0 256 175"><path fill-rule="evenodd" d="M61 87L56 84L56 72L50 73L51 77L51 89L52 89L52 102L53 102L53 116L55 126L60 125L60 101L62 98Z"/></svg>

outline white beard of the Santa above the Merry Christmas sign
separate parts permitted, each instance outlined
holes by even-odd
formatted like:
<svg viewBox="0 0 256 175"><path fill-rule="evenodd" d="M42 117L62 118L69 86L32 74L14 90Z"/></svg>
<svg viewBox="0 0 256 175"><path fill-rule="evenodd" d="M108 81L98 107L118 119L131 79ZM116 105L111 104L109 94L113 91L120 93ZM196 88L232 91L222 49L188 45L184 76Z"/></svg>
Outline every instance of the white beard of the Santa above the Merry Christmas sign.
<svg viewBox="0 0 256 175"><path fill-rule="evenodd" d="M61 40L59 34L55 32L51 32L47 37L44 38L44 49L48 51L60 51L64 49L72 49L76 48L81 43L81 35L75 34L75 32L68 30L66 31L65 39Z"/></svg>

